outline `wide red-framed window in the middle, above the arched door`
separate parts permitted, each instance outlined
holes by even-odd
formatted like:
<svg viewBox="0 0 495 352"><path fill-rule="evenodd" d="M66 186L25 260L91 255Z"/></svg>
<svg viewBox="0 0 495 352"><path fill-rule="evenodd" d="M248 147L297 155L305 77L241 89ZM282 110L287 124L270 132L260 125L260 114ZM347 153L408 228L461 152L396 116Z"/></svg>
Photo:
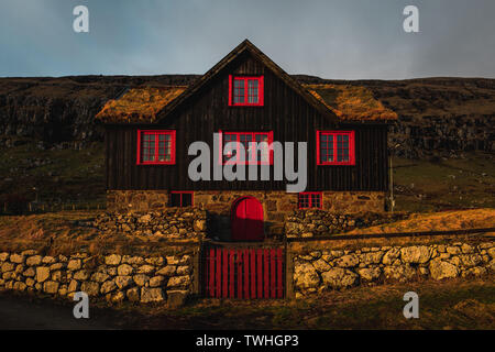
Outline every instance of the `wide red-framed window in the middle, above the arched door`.
<svg viewBox="0 0 495 352"><path fill-rule="evenodd" d="M222 164L273 165L273 131L222 132L220 131L220 157ZM235 143L229 147L228 143ZM260 144L266 143L266 144ZM244 155L241 150L244 148ZM223 151L227 151L223 154ZM235 157L235 160L231 160Z"/></svg>

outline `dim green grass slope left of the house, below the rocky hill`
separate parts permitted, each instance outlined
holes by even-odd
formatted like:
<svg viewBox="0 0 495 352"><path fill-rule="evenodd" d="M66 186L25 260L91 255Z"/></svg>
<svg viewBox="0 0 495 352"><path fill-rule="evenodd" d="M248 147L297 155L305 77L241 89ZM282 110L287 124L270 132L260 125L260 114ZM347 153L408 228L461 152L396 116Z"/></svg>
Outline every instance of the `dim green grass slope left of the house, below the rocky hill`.
<svg viewBox="0 0 495 352"><path fill-rule="evenodd" d="M30 139L23 144L1 148L0 194L21 195L43 202L105 201L103 144L92 143L81 151L40 150ZM33 161L41 161L36 166Z"/></svg>

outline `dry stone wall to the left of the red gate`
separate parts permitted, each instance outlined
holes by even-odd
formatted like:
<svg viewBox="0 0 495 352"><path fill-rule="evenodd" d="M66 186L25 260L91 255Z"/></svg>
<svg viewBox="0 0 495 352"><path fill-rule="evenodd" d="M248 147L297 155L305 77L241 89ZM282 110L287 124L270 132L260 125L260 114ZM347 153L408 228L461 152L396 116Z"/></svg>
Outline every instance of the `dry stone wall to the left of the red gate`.
<svg viewBox="0 0 495 352"><path fill-rule="evenodd" d="M184 304L193 293L189 254L169 256L41 255L36 251L0 253L0 289L72 298L76 292L109 301Z"/></svg>

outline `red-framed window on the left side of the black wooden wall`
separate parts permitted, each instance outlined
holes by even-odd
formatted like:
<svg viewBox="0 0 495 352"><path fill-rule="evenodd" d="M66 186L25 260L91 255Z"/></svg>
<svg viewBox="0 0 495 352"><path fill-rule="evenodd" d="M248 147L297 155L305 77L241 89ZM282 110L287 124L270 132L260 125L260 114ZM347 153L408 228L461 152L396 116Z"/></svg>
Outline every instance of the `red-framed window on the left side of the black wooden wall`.
<svg viewBox="0 0 495 352"><path fill-rule="evenodd" d="M175 131L138 130L138 165L175 164Z"/></svg>

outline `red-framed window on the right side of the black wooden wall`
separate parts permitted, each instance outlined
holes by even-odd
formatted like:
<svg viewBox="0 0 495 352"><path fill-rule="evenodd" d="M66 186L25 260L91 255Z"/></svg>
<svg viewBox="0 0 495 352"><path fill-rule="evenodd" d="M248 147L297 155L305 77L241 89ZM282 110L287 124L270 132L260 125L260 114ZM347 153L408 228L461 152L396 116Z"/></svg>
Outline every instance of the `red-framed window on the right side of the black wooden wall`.
<svg viewBox="0 0 495 352"><path fill-rule="evenodd" d="M317 131L318 165L355 165L354 131Z"/></svg>

